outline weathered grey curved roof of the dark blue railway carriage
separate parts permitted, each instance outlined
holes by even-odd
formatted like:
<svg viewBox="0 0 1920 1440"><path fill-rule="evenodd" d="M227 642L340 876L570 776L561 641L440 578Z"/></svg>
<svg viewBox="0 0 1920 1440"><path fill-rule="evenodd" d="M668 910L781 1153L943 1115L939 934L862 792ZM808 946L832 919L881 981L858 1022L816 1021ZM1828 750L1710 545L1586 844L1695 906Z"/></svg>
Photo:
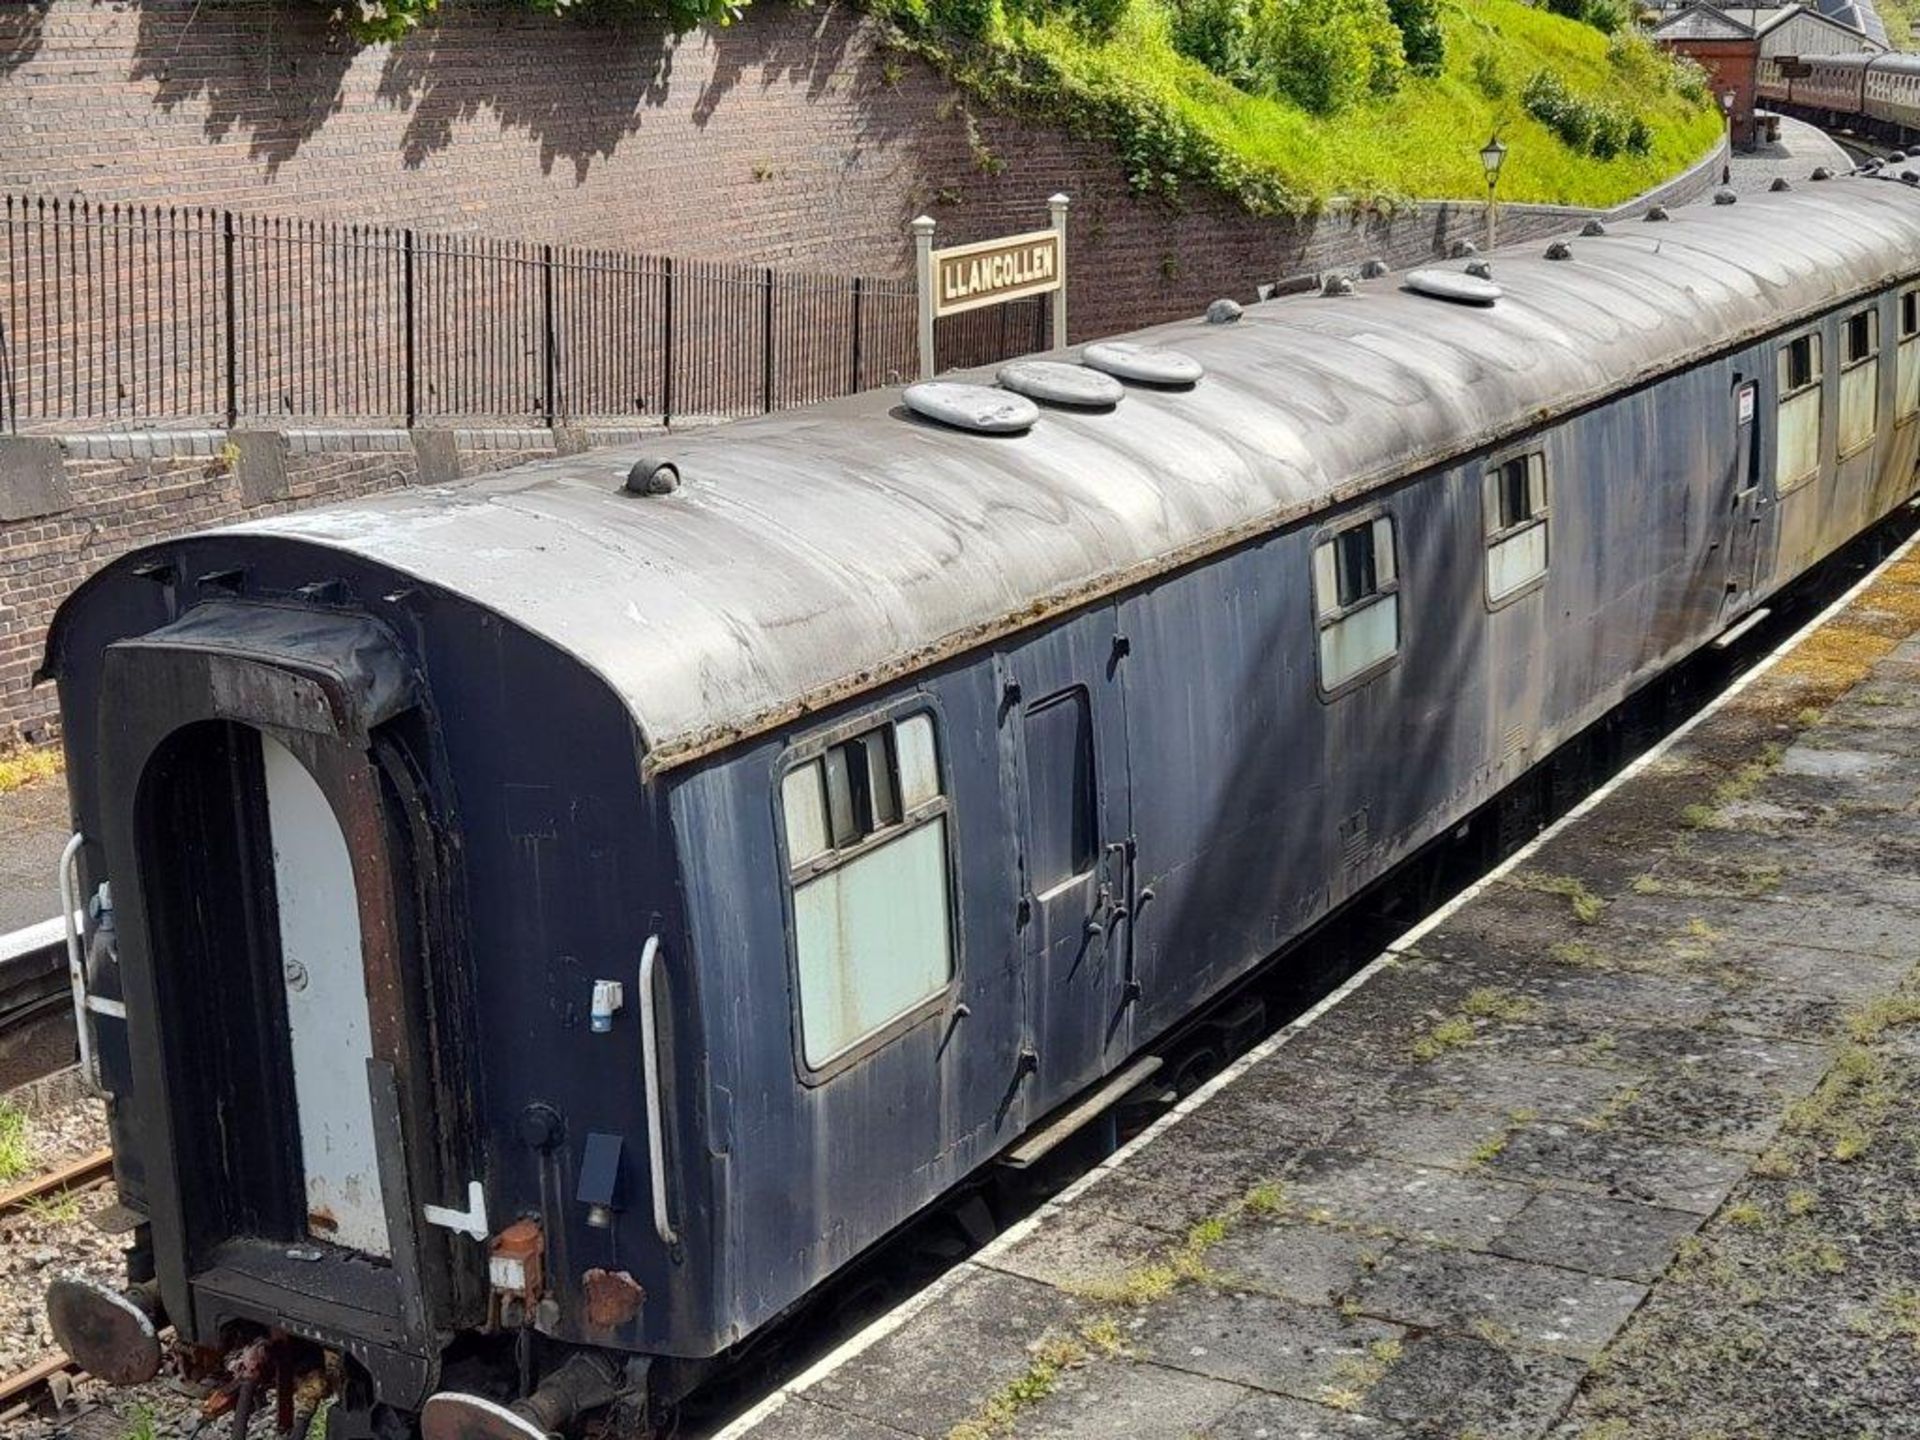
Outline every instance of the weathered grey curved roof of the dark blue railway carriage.
<svg viewBox="0 0 1920 1440"><path fill-rule="evenodd" d="M1018 438L879 390L232 530L547 637L672 766L1889 284L1920 265L1920 192L1839 179L1571 244L1500 252L1488 309L1388 278L1140 332L1206 378ZM682 488L626 493L641 453Z"/></svg>

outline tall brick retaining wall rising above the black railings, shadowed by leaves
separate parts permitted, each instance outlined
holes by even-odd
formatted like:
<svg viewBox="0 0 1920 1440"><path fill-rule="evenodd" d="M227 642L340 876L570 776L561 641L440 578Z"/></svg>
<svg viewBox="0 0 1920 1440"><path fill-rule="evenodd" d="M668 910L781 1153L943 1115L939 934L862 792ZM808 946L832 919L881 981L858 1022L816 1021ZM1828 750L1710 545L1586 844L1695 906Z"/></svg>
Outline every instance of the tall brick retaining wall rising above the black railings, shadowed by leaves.
<svg viewBox="0 0 1920 1440"><path fill-rule="evenodd" d="M351 48L311 0L0 13L0 190L904 275L937 244L1073 198L1075 336L1192 313L1261 280L1430 253L1478 207L1396 225L1258 221L1213 196L1129 196L1100 144L973 115L851 6L764 0L670 40L447 0L399 46Z"/></svg>

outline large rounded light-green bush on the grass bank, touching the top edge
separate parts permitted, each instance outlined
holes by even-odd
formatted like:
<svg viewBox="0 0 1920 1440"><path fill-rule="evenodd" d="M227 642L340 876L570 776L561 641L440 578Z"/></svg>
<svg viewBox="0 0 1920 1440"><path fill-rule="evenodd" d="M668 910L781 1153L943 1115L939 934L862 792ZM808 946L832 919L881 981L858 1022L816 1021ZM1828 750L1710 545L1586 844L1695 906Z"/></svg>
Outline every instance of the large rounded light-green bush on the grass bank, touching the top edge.
<svg viewBox="0 0 1920 1440"><path fill-rule="evenodd" d="M1405 67L1386 0L1263 0L1254 15L1260 81L1315 115L1392 94Z"/></svg>

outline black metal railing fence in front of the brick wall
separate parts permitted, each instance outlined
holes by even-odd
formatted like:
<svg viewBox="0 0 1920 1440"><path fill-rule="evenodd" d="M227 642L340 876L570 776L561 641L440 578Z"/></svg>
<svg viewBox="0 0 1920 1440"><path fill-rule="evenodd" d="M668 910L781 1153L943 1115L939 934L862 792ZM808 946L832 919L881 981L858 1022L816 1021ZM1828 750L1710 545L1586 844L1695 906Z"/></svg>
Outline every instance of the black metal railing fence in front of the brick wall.
<svg viewBox="0 0 1920 1440"><path fill-rule="evenodd" d="M941 369L1046 342L943 319ZM912 280L169 205L6 196L0 430L73 422L670 422L914 369Z"/></svg>

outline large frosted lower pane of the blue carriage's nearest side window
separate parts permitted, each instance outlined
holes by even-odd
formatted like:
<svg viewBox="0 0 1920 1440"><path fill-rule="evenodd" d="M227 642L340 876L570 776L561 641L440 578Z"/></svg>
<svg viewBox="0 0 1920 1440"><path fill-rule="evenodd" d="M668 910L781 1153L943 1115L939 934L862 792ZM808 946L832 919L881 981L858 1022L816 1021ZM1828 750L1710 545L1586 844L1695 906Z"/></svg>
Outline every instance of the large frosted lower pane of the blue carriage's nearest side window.
<svg viewBox="0 0 1920 1440"><path fill-rule="evenodd" d="M793 929L808 1066L939 995L952 975L945 816L797 887Z"/></svg>

